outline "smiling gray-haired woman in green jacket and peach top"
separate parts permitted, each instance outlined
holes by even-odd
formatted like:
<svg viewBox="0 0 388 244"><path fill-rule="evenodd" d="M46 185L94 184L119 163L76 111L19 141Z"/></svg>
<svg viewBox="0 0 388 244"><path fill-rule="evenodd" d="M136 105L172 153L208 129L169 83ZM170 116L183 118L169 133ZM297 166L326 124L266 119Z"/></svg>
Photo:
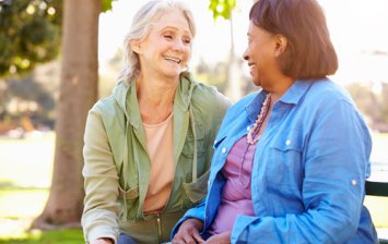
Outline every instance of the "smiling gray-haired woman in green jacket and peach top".
<svg viewBox="0 0 388 244"><path fill-rule="evenodd" d="M125 39L126 68L84 135L87 243L161 243L205 196L230 100L187 71L196 27L179 1L153 0Z"/></svg>

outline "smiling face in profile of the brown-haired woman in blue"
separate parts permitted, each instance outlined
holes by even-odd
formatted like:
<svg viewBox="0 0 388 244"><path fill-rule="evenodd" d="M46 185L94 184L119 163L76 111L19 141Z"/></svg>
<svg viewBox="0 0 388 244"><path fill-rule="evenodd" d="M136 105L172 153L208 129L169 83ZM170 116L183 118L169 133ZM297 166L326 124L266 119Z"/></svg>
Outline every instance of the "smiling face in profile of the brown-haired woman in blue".
<svg viewBox="0 0 388 244"><path fill-rule="evenodd" d="M248 61L255 85L270 85L272 77L280 72L277 57L282 51L277 35L266 32L252 22L249 23L248 47L243 57Z"/></svg>

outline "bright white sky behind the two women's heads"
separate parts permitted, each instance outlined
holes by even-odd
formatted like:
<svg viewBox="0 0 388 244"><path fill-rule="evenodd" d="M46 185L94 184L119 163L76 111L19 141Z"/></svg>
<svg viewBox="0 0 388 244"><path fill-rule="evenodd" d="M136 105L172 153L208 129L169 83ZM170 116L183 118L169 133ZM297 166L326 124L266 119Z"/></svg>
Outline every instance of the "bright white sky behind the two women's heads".
<svg viewBox="0 0 388 244"><path fill-rule="evenodd" d="M104 63L121 48L134 12L146 0L117 0L113 10L99 17L99 60ZM200 60L212 64L230 53L230 22L213 21L209 0L186 0L191 7L198 34L191 65ZM339 70L332 78L349 82L388 82L388 1L318 0L324 8L331 40L339 57ZM248 13L252 0L237 0L233 13L235 52L242 57L247 45ZM378 51L379 54L373 54Z"/></svg>

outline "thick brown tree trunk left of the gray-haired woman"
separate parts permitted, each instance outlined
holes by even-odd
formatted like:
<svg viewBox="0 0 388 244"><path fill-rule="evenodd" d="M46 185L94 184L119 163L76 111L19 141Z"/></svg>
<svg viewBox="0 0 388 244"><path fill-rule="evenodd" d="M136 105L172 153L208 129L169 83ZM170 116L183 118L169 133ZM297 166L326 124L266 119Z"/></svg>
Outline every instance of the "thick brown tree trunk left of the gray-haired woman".
<svg viewBox="0 0 388 244"><path fill-rule="evenodd" d="M80 227L83 133L87 111L97 99L101 0L66 0L63 4L54 173L46 207L32 224L37 229Z"/></svg>

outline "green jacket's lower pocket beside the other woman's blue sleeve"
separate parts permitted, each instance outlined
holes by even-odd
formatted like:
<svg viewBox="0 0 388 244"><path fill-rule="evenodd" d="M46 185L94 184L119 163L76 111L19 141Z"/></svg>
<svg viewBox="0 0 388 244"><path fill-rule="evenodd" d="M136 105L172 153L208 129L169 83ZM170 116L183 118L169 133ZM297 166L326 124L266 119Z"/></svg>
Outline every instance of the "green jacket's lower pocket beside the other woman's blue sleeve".
<svg viewBox="0 0 388 244"><path fill-rule="evenodd" d="M184 190L187 198L191 202L190 205L196 204L205 197L208 193L209 174L210 171L208 170L197 180L197 182L184 182Z"/></svg>

